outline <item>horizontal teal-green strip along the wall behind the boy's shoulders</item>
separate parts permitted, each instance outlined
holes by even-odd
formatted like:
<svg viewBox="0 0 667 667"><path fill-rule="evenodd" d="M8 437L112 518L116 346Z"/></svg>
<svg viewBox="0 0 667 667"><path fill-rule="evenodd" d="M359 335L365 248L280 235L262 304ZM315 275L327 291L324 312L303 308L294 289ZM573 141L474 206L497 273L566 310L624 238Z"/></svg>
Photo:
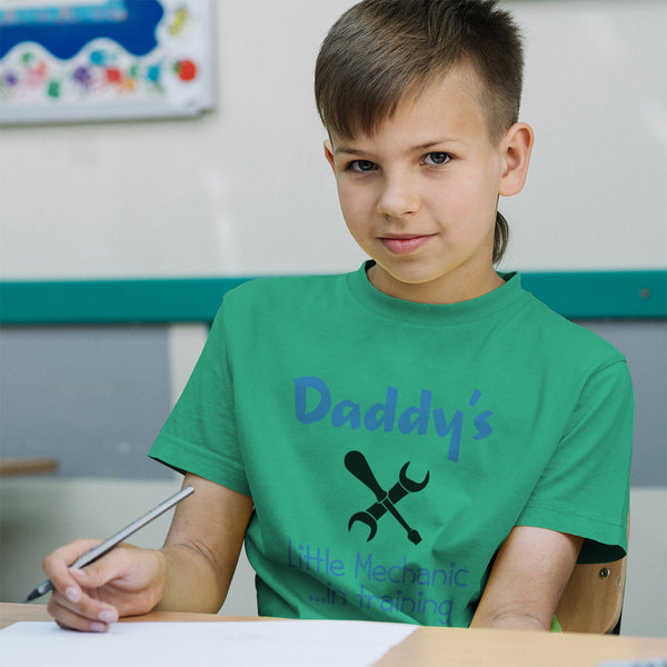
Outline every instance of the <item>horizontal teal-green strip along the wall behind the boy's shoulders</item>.
<svg viewBox="0 0 667 667"><path fill-rule="evenodd" d="M211 321L222 296L251 278L11 280L0 325ZM524 287L577 319L667 317L667 271L526 272Z"/></svg>

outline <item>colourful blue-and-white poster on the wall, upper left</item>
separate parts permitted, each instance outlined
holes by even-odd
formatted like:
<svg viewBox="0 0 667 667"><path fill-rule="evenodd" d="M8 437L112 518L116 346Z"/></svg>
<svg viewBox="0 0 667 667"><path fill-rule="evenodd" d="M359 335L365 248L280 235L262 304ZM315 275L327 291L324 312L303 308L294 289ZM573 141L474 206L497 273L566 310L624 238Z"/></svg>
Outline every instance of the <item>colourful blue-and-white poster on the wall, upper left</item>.
<svg viewBox="0 0 667 667"><path fill-rule="evenodd" d="M213 107L211 0L0 0L0 123Z"/></svg>

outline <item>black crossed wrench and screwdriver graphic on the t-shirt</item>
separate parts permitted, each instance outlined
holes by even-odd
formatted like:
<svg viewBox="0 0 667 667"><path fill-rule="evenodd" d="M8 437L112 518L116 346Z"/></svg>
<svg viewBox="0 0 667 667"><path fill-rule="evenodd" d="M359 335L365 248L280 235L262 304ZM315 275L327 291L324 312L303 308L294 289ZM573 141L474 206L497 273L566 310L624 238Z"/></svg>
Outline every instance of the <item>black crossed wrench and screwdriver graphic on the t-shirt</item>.
<svg viewBox="0 0 667 667"><path fill-rule="evenodd" d="M366 457L360 451L348 451L345 455L345 467L361 482L364 482L376 496L377 502L374 502L368 509L354 514L348 524L348 530L352 529L352 525L357 521L366 524L370 532L367 541L370 541L378 531L379 519L389 511L394 518L406 529L408 539L412 544L419 544L421 536L415 528L411 528L396 508L396 504L405 498L408 494L420 491L427 484L430 472L426 474L422 481L415 481L407 476L408 461L398 475L398 481L385 491L376 479Z"/></svg>

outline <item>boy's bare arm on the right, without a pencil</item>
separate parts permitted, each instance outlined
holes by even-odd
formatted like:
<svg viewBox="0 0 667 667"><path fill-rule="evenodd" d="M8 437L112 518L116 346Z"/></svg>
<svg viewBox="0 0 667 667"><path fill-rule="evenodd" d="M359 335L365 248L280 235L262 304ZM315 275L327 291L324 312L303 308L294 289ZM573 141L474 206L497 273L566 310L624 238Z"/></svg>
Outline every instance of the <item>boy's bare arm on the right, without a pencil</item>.
<svg viewBox="0 0 667 667"><path fill-rule="evenodd" d="M549 630L583 541L516 526L496 556L470 627Z"/></svg>

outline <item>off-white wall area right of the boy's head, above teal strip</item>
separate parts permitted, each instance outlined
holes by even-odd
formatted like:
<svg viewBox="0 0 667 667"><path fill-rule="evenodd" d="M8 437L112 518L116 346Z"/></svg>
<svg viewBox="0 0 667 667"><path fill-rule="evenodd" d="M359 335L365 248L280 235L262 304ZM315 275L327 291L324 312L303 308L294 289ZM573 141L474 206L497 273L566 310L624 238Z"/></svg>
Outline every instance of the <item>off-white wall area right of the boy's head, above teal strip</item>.
<svg viewBox="0 0 667 667"><path fill-rule="evenodd" d="M527 42L536 146L504 203L507 263L532 270L667 263L667 2L507 2Z"/></svg>

